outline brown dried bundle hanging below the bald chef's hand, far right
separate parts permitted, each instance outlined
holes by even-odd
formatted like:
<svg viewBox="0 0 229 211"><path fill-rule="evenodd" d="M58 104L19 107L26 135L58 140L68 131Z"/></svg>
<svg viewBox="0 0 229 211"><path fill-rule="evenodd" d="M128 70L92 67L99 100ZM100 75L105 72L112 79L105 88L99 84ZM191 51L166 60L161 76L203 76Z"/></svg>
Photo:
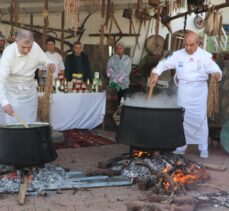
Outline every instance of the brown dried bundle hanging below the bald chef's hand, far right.
<svg viewBox="0 0 229 211"><path fill-rule="evenodd" d="M211 76L208 89L208 118L214 119L219 112L219 86L218 80Z"/></svg>

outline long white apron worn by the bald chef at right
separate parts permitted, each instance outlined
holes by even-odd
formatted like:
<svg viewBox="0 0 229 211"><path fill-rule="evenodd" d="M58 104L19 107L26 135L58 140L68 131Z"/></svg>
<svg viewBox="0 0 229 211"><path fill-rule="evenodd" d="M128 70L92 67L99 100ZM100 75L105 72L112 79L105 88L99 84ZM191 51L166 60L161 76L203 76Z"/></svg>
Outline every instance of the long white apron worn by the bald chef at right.
<svg viewBox="0 0 229 211"><path fill-rule="evenodd" d="M206 81L179 81L178 105L185 108L186 144L198 144L200 151L208 149L207 95Z"/></svg>

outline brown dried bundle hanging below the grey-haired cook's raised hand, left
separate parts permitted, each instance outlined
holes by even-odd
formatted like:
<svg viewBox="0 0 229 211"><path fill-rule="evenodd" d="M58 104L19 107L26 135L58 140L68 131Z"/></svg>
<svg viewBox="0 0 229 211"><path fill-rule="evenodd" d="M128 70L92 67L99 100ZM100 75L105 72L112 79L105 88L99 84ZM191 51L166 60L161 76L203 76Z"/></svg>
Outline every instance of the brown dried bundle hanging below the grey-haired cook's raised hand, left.
<svg viewBox="0 0 229 211"><path fill-rule="evenodd" d="M38 120L41 122L50 122L50 95L52 91L52 70L48 67L44 95L38 98L37 114Z"/></svg>

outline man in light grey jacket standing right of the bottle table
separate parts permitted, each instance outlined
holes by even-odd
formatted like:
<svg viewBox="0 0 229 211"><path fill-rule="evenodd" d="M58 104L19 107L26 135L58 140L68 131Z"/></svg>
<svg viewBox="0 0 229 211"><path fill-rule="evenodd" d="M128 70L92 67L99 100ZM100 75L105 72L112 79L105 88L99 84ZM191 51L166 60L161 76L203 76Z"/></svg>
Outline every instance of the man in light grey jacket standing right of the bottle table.
<svg viewBox="0 0 229 211"><path fill-rule="evenodd" d="M110 78L110 86L118 93L118 100L126 97L130 85L129 75L131 72L131 59L124 55L125 47L122 43L115 46L115 54L109 59L107 64L107 77Z"/></svg>

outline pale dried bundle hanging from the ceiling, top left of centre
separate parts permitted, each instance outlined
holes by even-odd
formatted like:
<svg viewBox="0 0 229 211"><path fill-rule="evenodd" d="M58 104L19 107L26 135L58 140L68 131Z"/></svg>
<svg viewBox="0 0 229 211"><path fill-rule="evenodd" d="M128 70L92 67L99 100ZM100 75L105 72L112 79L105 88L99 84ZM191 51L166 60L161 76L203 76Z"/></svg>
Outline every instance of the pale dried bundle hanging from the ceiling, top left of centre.
<svg viewBox="0 0 229 211"><path fill-rule="evenodd" d="M80 0L64 0L64 11L67 15L67 20L70 21L70 27L75 32L79 24L79 8Z"/></svg>

